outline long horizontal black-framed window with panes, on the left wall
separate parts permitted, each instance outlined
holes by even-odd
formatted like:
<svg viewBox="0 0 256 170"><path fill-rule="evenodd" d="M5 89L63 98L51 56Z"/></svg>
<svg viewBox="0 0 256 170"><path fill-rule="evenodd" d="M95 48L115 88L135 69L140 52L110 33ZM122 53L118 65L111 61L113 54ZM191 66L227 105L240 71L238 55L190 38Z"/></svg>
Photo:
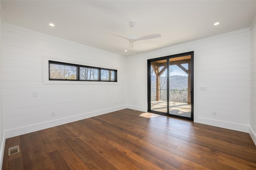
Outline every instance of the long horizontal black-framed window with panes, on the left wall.
<svg viewBox="0 0 256 170"><path fill-rule="evenodd" d="M117 70L49 61L49 80L117 82Z"/></svg>

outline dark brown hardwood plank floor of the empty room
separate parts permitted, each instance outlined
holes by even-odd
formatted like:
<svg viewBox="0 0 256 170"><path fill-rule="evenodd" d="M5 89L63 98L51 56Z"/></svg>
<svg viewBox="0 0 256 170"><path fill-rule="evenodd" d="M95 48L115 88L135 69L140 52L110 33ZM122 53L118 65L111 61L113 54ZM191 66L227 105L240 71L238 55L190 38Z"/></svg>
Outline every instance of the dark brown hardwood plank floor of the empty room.
<svg viewBox="0 0 256 170"><path fill-rule="evenodd" d="M124 109L6 139L2 169L256 170L256 146L248 133Z"/></svg>

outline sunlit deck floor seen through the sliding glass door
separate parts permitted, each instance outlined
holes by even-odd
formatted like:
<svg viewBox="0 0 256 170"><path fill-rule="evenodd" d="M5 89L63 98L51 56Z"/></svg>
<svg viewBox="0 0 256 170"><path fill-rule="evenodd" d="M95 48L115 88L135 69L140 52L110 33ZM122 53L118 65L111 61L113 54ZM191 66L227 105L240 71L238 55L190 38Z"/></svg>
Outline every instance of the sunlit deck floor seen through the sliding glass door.
<svg viewBox="0 0 256 170"><path fill-rule="evenodd" d="M166 101L154 101L151 102L151 110L167 112ZM191 105L179 102L170 102L170 114L180 115L184 117L191 117Z"/></svg>

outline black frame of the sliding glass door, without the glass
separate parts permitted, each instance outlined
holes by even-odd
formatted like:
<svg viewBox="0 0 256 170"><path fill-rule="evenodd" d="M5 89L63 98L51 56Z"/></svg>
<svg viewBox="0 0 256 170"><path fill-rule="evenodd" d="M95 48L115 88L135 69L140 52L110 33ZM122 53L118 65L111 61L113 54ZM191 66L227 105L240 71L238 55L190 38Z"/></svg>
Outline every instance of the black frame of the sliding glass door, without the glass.
<svg viewBox="0 0 256 170"><path fill-rule="evenodd" d="M190 66L191 66L191 117L184 117L184 116L180 116L180 115L173 115L170 114L170 86L167 85L167 113L164 114L162 112L158 112L158 111L153 111L151 109L151 62L152 61L158 61L158 60L166 60L167 62L167 84L170 83L170 62L169 59L172 58L176 58L176 57L182 57L182 56L186 56L186 55L190 55L191 59L190 59ZM189 92L188 92L189 93ZM171 117L178 117L181 119L188 119L191 121L194 121L194 51L190 51L187 53L181 53L181 54L176 54L176 55L169 55L169 56L165 56L165 57L159 57L156 59L148 59L148 112L152 112L152 113L158 113L158 114L164 114L164 115L168 115Z"/></svg>

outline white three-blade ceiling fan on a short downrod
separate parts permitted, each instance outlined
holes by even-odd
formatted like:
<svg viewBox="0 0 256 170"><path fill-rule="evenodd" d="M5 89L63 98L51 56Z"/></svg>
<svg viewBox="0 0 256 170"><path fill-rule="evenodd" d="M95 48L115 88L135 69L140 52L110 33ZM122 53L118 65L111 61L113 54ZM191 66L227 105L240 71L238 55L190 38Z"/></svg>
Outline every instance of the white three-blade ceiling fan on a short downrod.
<svg viewBox="0 0 256 170"><path fill-rule="evenodd" d="M153 38L161 37L160 33L154 33L154 34L145 35L145 36L136 38L136 37L134 37L134 33L133 33L133 28L134 28L135 24L136 24L135 22L131 22L130 23L130 26L132 27L132 36L131 37L124 37L122 35L117 35L117 34L110 33L110 32L108 32L108 33L112 34L112 35L115 35L117 37L121 37L121 38L127 39L128 41L130 41L129 48L133 47L133 43L135 41L140 41L140 40L145 40L145 39L153 39Z"/></svg>

